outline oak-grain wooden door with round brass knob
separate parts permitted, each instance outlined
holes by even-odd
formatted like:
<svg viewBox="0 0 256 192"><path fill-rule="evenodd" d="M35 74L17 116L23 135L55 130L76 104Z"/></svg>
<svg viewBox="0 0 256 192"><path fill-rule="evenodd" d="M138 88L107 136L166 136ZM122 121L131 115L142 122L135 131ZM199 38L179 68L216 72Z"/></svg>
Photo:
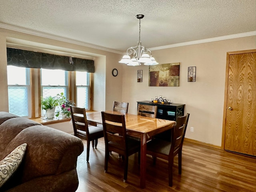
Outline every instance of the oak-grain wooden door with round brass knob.
<svg viewBox="0 0 256 192"><path fill-rule="evenodd" d="M224 149L256 156L256 50L228 52L226 76Z"/></svg>

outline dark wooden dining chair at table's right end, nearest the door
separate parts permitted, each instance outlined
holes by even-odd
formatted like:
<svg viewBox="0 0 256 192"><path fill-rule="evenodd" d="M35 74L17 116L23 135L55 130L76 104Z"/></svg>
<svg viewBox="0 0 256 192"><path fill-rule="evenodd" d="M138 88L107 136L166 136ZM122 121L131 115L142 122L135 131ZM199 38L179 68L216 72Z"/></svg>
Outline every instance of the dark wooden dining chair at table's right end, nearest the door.
<svg viewBox="0 0 256 192"><path fill-rule="evenodd" d="M172 166L174 157L178 154L178 173L181 174L182 164L182 145L188 125L189 113L177 118L174 134L171 142L160 138L153 138L147 143L147 154L153 157L153 164L156 164L156 158L168 161L169 186L172 186Z"/></svg>

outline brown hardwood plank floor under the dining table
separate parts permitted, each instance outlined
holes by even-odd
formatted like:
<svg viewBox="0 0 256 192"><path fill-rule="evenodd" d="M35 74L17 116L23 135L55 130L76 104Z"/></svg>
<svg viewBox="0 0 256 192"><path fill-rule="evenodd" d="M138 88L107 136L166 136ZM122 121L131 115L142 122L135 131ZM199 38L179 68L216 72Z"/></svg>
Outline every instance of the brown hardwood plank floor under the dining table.
<svg viewBox="0 0 256 192"><path fill-rule="evenodd" d="M84 148L86 149L86 141ZM174 159L173 186L168 186L168 164L147 156L146 188L140 188L138 154L129 157L128 179L123 182L124 167L118 154L110 156L104 173L104 138L98 148L90 148L78 157L77 192L256 192L256 158L184 141L182 174L178 174L178 158Z"/></svg>

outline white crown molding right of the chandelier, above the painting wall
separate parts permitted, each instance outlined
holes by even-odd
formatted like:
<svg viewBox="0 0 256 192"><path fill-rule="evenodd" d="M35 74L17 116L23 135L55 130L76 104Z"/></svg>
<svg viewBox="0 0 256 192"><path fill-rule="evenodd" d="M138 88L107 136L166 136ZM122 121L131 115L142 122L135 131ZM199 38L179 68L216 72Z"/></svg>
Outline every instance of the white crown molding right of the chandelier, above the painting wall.
<svg viewBox="0 0 256 192"><path fill-rule="evenodd" d="M254 35L256 35L256 31L234 34L234 35L221 36L221 37L215 37L215 38L209 38L209 39L202 39L202 40L196 40L196 41L189 41L189 42L171 44L171 45L166 45L166 46L153 47L153 48L150 48L150 50L167 49L167 48L173 48L173 47L180 47L180 46L200 44L200 43L208 43L208 42L213 42L213 41L221 41L221 40L226 40L226 39L233 39L233 38L254 36Z"/></svg>

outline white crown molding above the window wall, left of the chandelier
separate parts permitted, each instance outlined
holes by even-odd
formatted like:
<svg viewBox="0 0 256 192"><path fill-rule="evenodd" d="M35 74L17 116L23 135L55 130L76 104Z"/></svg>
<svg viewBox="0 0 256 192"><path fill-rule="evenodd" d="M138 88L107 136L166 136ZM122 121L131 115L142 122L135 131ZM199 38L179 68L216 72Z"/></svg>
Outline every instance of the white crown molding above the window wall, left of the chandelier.
<svg viewBox="0 0 256 192"><path fill-rule="evenodd" d="M108 48L104 48L104 47L100 47L100 46L96 46L96 45L92 45L92 44L88 44L88 43L84 43L84 42L80 42L80 41L76 41L76 40L71 40L68 38L63 38L63 37L59 37L59 36L55 36L55 35L50 35L50 34L46 34L46 33L42 33L42 32L36 32L33 30L28 30L28 29L11 26L11 25L7 25L7 24L0 23L0 28L13 30L13 31L17 31L17 32L22 32L22 33L26 33L26 34L30 34L30 35L35 35L35 36L39 36L39 37L49 38L52 40L58 40L58 41L62 41L62 42L72 43L72 44L76 44L76 45L80 45L80 46L90 47L90 48L107 51L107 52L112 52L112 53L116 53L116 54L123 54L123 52L120 52L120 51L116 51L116 50L112 50L112 49L108 49Z"/></svg>

